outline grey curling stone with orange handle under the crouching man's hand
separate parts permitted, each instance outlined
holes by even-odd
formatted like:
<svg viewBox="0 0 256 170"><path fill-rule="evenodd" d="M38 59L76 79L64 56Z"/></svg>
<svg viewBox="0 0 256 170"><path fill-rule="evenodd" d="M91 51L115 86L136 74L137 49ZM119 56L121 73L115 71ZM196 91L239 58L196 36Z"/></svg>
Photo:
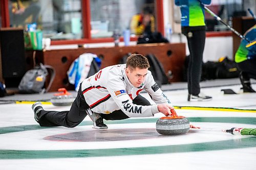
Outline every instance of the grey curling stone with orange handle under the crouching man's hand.
<svg viewBox="0 0 256 170"><path fill-rule="evenodd" d="M171 116L160 117L156 130L162 135L180 135L189 131L189 121L184 116L178 116L174 109Z"/></svg>

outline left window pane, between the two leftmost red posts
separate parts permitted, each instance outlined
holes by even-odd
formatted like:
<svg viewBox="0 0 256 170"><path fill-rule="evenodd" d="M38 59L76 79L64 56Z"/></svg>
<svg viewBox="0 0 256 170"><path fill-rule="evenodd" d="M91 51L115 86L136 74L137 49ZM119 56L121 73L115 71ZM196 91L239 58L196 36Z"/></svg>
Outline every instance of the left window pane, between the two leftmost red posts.
<svg viewBox="0 0 256 170"><path fill-rule="evenodd" d="M80 0L10 1L9 16L11 27L36 23L52 40L82 38Z"/></svg>

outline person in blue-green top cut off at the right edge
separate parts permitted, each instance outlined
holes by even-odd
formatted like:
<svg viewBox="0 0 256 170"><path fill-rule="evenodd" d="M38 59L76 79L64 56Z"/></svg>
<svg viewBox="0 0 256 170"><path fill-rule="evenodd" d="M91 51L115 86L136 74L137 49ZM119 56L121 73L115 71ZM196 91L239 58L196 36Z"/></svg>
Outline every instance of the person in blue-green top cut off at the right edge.
<svg viewBox="0 0 256 170"><path fill-rule="evenodd" d="M239 78L243 86L244 92L256 92L251 88L250 78L256 79L256 25L251 27L244 34L245 38L251 43L248 43L245 39L241 41L234 61L238 63L238 67L241 70Z"/></svg>

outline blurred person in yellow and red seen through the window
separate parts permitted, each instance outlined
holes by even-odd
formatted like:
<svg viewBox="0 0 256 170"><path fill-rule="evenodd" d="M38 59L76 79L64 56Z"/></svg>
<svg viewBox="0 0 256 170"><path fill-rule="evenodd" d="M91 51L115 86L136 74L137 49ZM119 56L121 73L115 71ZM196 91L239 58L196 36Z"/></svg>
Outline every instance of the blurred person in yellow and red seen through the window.
<svg viewBox="0 0 256 170"><path fill-rule="evenodd" d="M142 13L132 17L130 25L132 33L135 35L151 35L155 32L155 17L149 7L145 7Z"/></svg>

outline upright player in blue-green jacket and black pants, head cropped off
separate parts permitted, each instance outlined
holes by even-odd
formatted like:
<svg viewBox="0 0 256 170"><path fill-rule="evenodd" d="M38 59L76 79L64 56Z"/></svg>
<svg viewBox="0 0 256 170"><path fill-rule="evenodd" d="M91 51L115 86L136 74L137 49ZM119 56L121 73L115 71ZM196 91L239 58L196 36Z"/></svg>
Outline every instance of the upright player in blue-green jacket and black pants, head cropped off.
<svg viewBox="0 0 256 170"><path fill-rule="evenodd" d="M202 59L205 43L204 5L210 0L175 0L181 10L181 30L187 37L190 58L188 62L188 101L209 101L211 96L200 93Z"/></svg>

